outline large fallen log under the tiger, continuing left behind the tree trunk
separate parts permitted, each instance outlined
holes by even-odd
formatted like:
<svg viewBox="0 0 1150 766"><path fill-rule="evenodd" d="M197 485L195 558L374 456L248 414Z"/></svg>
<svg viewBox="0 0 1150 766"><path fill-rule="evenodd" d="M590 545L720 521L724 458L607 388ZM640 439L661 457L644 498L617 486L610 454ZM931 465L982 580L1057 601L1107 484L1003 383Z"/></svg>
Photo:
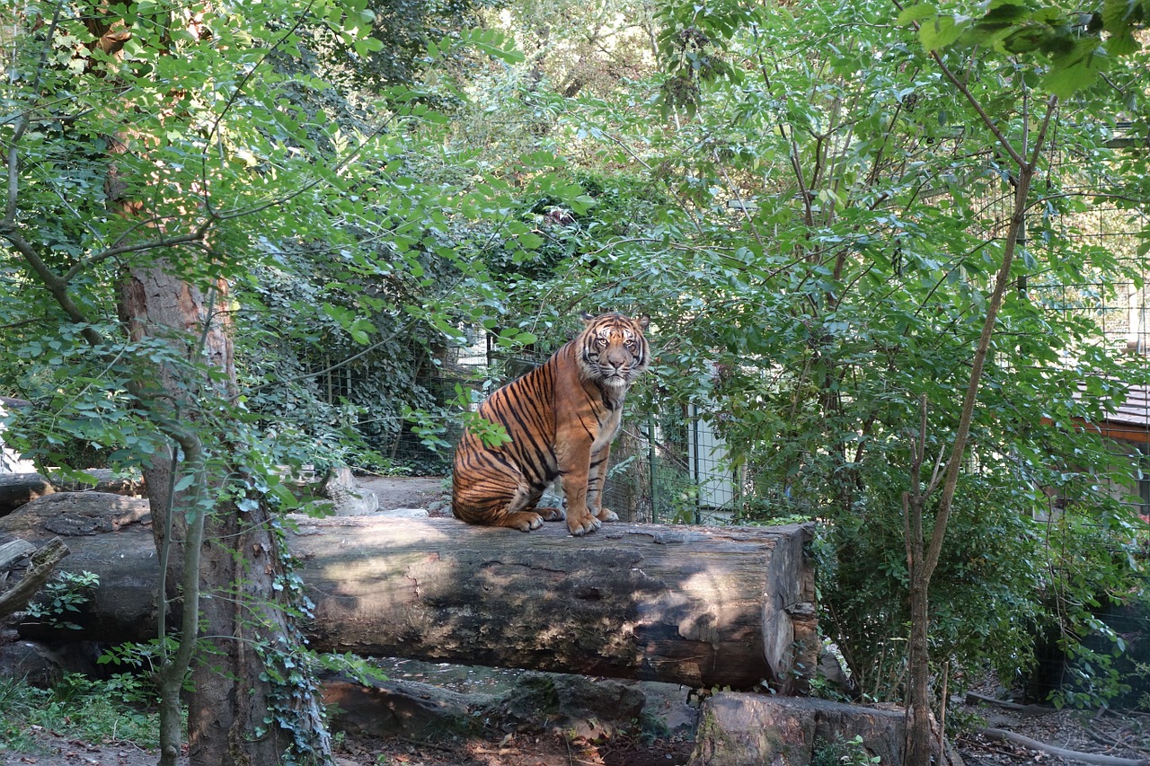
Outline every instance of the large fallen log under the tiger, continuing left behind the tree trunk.
<svg viewBox="0 0 1150 766"><path fill-rule="evenodd" d="M0 543L64 537L68 567L100 575L86 637L147 638L147 505L98 498L34 500L0 519ZM523 535L453 519L296 521L289 544L320 650L784 692L815 666L806 527L613 523L573 538L564 524Z"/></svg>

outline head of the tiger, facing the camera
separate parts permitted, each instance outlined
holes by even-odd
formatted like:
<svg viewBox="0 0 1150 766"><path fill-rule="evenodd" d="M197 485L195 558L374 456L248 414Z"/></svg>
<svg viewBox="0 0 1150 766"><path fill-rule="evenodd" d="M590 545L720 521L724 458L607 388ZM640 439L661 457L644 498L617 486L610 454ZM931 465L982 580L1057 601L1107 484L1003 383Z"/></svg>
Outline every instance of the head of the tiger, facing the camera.
<svg viewBox="0 0 1150 766"><path fill-rule="evenodd" d="M643 330L651 319L622 314L583 314L578 343L580 373L615 393L622 393L647 368L651 348Z"/></svg>

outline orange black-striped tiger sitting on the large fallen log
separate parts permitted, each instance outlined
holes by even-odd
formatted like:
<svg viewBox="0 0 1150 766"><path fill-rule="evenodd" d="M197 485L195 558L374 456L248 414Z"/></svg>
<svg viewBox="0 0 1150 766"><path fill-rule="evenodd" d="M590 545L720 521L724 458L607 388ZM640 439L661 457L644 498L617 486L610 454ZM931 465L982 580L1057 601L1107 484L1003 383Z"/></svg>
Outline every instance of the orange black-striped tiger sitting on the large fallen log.
<svg viewBox="0 0 1150 766"><path fill-rule="evenodd" d="M542 367L498 389L480 415L501 424L511 442L486 446L465 432L455 447L451 510L473 524L538 529L565 518L538 508L555 480L567 498L567 529L580 537L619 519L601 507L611 442L627 389L646 369L646 316L590 316L573 340Z"/></svg>

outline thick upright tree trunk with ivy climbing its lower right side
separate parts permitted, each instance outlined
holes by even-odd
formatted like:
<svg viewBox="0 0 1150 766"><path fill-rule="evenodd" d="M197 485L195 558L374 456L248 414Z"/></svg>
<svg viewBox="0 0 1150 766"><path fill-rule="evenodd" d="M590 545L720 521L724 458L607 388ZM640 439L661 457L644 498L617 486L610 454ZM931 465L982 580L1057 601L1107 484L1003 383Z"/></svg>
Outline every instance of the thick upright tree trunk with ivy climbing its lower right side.
<svg viewBox="0 0 1150 766"><path fill-rule="evenodd" d="M225 294L222 283L214 290ZM183 615L183 651L172 657L170 672L162 673L171 687L164 697L178 699L179 665L189 658L189 642L197 641L198 611L207 653L199 651L191 665L187 740L192 766L276 764L293 742L313 743L316 752L310 754L325 760L330 742L314 689L297 681L293 688L279 690L270 680L275 672L269 668L297 651L299 634L289 616L291 605L283 599L284 558L269 511L255 499L245 501L243 511L235 501L212 505L207 500L223 489L223 476L229 477L229 497L247 496L243 472L231 465L229 441L204 443L213 438L210 428L204 426L205 411L214 418L223 408L236 377L229 327L213 316L213 298L168 268L133 270L121 292L121 319L133 340L164 338L183 359L217 371L215 380L187 380L190 367L161 366L150 382L154 388L141 382L133 391L161 430L179 444L185 464L191 464L177 466L172 451L154 455L144 472L156 551L167 561L164 598L178 596L185 610L192 610ZM195 424L199 430L192 430ZM172 492L177 476L189 470L194 474L190 489ZM195 550L183 549L184 541L197 538L202 544ZM182 583L178 590L176 583ZM166 612L159 618L164 625ZM172 719L178 720L178 710L170 711L161 727L174 726ZM277 723L268 726L269 719ZM292 721L293 730L282 728L278 722L283 721ZM175 763L169 750L163 748L161 764Z"/></svg>

